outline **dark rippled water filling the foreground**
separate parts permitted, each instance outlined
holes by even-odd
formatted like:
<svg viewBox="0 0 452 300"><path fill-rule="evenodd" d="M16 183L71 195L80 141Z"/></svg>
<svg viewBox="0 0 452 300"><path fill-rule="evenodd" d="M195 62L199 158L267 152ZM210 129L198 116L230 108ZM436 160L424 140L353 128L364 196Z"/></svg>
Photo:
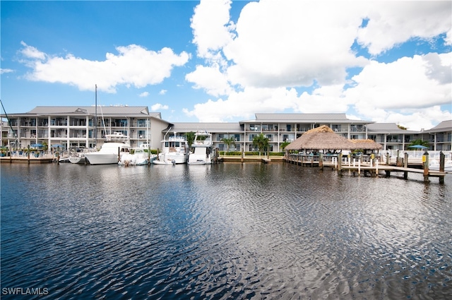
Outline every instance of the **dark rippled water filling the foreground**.
<svg viewBox="0 0 452 300"><path fill-rule="evenodd" d="M452 297L450 174L440 185L284 163L0 171L2 299Z"/></svg>

